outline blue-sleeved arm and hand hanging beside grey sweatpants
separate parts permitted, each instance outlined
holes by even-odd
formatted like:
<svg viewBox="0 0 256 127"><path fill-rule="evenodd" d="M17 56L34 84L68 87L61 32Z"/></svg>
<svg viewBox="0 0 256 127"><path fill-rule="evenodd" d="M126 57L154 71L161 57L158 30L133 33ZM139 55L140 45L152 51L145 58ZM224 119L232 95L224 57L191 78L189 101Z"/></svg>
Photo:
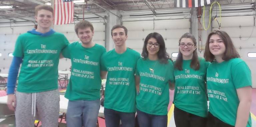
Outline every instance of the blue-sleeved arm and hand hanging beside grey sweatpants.
<svg viewBox="0 0 256 127"><path fill-rule="evenodd" d="M7 78L7 106L10 110L15 110L16 107L16 97L14 95L14 89L17 82L17 77L19 73L20 64L22 63L21 57L14 56L9 69L9 74Z"/></svg>

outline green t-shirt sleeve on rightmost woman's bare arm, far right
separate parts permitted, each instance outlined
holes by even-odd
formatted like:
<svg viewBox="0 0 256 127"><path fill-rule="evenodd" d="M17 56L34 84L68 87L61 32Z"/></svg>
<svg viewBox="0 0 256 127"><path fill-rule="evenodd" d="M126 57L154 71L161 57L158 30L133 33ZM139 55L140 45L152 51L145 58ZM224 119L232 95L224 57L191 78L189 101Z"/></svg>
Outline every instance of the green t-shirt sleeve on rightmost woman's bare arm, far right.
<svg viewBox="0 0 256 127"><path fill-rule="evenodd" d="M232 81L236 89L252 86L251 70L245 62L240 62L231 68Z"/></svg>

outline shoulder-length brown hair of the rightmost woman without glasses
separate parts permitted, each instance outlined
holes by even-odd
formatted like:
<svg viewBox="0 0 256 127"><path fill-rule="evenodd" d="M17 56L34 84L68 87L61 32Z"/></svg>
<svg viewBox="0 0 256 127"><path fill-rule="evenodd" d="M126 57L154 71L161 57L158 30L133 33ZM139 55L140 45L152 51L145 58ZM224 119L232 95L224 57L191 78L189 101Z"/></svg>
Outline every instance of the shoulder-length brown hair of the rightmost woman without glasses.
<svg viewBox="0 0 256 127"><path fill-rule="evenodd" d="M222 56L223 60L230 60L232 58L240 58L240 55L238 54L238 52L236 51L235 46L232 43L231 38L228 36L228 34L224 31L220 31L220 30L214 30L213 32L211 32L208 35L208 38L206 40L206 44L205 44L205 51L204 51L204 58L206 61L210 61L213 62L215 57L214 55L210 52L209 49L209 40L210 37L212 35L219 35L219 37L223 40L223 43L226 47L226 50L224 52L224 55Z"/></svg>

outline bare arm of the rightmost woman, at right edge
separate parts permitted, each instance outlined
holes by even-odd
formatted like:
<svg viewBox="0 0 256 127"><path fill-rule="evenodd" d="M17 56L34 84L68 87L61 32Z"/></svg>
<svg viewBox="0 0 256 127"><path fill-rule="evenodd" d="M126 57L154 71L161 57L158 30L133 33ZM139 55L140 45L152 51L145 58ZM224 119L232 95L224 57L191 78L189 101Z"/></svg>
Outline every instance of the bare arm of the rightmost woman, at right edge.
<svg viewBox="0 0 256 127"><path fill-rule="evenodd" d="M239 98L235 127L246 127L252 102L252 87L236 89Z"/></svg>

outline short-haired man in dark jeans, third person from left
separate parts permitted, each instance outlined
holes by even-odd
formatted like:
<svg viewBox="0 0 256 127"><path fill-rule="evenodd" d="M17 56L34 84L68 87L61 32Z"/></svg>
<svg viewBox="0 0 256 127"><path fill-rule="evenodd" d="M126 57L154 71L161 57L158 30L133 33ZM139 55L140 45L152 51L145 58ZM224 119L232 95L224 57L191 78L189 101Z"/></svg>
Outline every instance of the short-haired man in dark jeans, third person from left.
<svg viewBox="0 0 256 127"><path fill-rule="evenodd" d="M135 69L140 54L126 47L127 28L115 25L111 29L115 49L101 57L102 70L108 72L104 100L106 127L135 126Z"/></svg>

